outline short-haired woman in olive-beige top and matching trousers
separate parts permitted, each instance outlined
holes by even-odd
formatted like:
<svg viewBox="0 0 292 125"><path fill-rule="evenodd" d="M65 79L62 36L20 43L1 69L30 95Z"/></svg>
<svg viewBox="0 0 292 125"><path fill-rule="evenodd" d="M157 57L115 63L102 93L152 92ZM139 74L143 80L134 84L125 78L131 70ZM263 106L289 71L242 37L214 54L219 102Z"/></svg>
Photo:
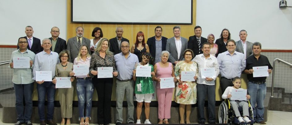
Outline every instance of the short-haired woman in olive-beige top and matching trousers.
<svg viewBox="0 0 292 125"><path fill-rule="evenodd" d="M52 80L53 84L57 83L56 77L69 77L70 72L73 70L73 63L68 62L69 57L70 52L68 50L63 50L60 52L59 59L61 60L61 63L56 65L55 78L54 80ZM58 88L62 117L62 122L60 125L65 124L65 118L67 118L66 124L69 125L70 118L72 118L72 103L74 91L74 87L72 86L73 80L74 77L71 77L71 88Z"/></svg>

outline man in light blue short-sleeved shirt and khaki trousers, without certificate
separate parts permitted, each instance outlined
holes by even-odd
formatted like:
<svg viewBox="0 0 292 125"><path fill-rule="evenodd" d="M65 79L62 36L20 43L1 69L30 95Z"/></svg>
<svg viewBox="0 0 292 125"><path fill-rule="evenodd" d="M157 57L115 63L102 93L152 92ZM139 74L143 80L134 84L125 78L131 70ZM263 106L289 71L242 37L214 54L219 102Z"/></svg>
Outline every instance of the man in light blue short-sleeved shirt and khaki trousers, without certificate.
<svg viewBox="0 0 292 125"><path fill-rule="evenodd" d="M128 41L121 43L122 52L115 55L116 68L118 76L116 76L116 125L123 122L123 101L126 92L128 104L127 123L134 123L134 81L133 70L135 64L138 64L138 57L129 52L130 44Z"/></svg>

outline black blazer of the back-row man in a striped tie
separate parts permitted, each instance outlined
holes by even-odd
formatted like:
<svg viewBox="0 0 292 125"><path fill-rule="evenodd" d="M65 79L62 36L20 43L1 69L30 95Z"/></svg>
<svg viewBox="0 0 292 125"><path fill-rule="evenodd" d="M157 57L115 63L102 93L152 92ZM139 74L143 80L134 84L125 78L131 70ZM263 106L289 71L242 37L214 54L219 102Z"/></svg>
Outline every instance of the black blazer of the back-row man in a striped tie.
<svg viewBox="0 0 292 125"><path fill-rule="evenodd" d="M201 48L202 48L203 43L205 43L205 42L208 42L208 40L207 40L206 38L204 38L204 37L201 37L201 43L200 43ZM198 40L197 40L196 35L194 35L194 36L190 36L190 37L188 38L188 49L193 50L193 52L194 52L194 57L195 57L196 55L198 55L199 52L200 52L200 54L203 53L203 51L202 51L201 48L199 48Z"/></svg>

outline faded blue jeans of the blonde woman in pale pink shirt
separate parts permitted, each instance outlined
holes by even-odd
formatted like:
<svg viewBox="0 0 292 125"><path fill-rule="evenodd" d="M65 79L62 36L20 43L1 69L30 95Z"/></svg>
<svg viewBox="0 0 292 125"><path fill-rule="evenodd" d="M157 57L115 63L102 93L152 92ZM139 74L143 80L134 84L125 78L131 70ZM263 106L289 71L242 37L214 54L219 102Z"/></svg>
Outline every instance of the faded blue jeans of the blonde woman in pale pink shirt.
<svg viewBox="0 0 292 125"><path fill-rule="evenodd" d="M85 102L85 117L89 117L89 119L91 119L92 94L94 90L91 78L77 78L76 89L78 95L79 120L80 118L84 118Z"/></svg>

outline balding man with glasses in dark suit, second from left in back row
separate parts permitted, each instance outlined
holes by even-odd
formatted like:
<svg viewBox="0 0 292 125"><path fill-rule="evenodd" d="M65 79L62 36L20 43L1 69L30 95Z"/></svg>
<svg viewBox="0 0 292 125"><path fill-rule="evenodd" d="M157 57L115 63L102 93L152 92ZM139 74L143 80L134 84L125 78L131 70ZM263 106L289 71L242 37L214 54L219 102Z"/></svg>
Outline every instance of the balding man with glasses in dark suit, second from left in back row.
<svg viewBox="0 0 292 125"><path fill-rule="evenodd" d="M66 41L59 37L59 35L60 35L60 29L59 28L53 27L51 29L51 35L52 35L52 37L49 38L52 41L51 51L60 54L60 52L62 50L66 50L67 49Z"/></svg>

